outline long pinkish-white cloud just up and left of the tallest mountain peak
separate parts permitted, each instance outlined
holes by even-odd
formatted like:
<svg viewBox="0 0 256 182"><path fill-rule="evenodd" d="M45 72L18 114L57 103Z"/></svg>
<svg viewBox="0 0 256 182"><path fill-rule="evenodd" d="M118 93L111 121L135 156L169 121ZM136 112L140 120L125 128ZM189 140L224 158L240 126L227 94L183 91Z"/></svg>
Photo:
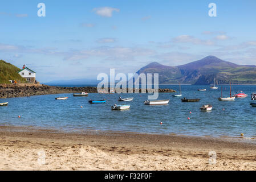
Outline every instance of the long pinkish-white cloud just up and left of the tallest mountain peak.
<svg viewBox="0 0 256 182"><path fill-rule="evenodd" d="M201 40L198 38L194 38L190 35L180 35L176 38L172 39L175 43L192 43L192 44L199 44L205 46L214 46L214 42L212 40Z"/></svg>

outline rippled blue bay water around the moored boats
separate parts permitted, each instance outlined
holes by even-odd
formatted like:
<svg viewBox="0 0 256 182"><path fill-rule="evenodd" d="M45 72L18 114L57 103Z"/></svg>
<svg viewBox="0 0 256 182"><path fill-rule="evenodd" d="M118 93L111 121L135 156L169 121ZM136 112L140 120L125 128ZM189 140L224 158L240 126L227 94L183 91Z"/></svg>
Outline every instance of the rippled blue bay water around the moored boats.
<svg viewBox="0 0 256 182"><path fill-rule="evenodd" d="M71 86L71 85L65 85ZM87 85L72 85L87 86ZM213 137L256 137L256 107L251 107L250 94L255 85L233 85L233 90L243 90L249 96L235 101L218 101L221 88L209 89L209 85L182 85L182 97L201 98L200 102L181 102L174 93L159 93L159 100L170 99L169 105L149 106L143 101L148 94L97 94L73 97L72 94L56 94L23 98L0 99L9 102L0 107L0 125L35 126L74 130L131 131L157 134L185 134ZM178 85L161 85L160 88L179 90ZM197 89L206 88L206 92ZM229 96L229 86L223 86L224 97ZM118 102L119 96L134 97L131 102ZM68 97L68 100L55 100ZM89 104L88 100L106 99L105 104ZM129 104L129 110L111 110L113 104ZM212 104L213 110L200 111L203 104ZM81 108L80 106L83 106ZM225 110L223 110L225 109ZM189 111L192 114L189 114ZM21 118L18 118L21 115ZM190 117L190 120L188 120ZM163 125L160 125L160 122Z"/></svg>

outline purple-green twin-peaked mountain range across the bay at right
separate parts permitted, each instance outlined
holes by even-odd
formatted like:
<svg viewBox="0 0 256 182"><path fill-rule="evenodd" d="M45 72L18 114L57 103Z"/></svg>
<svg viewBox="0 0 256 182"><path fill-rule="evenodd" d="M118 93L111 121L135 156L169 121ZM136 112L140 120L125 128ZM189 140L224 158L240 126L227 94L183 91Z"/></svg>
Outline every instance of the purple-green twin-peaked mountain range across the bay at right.
<svg viewBox="0 0 256 182"><path fill-rule="evenodd" d="M256 65L238 65L216 56L207 56L188 64L170 67L157 62L139 69L137 73L159 73L159 84L256 84Z"/></svg>

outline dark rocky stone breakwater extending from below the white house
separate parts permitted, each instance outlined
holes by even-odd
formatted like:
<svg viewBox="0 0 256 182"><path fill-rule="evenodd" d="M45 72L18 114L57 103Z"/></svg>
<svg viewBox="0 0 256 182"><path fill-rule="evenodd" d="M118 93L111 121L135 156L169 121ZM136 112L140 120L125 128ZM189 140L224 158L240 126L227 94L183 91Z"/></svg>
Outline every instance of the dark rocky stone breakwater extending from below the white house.
<svg viewBox="0 0 256 182"><path fill-rule="evenodd" d="M78 93L78 92L97 93L97 88L94 86L62 87L62 86L48 86L48 85L30 85L30 86L0 85L0 98L29 97L29 96L46 95L46 94ZM141 89L140 89L140 92L141 92ZM176 92L176 91L172 89L159 89L159 92Z"/></svg>

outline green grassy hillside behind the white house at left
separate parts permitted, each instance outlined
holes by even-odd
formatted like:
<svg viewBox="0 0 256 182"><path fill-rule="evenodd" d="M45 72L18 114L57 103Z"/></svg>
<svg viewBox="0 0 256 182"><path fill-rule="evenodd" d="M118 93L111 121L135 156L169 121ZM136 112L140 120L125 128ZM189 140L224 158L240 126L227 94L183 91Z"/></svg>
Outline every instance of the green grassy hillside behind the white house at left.
<svg viewBox="0 0 256 182"><path fill-rule="evenodd" d="M25 78L22 78L18 71L21 71L21 69L0 60L0 84L10 84L9 80L16 80L25 83Z"/></svg>

